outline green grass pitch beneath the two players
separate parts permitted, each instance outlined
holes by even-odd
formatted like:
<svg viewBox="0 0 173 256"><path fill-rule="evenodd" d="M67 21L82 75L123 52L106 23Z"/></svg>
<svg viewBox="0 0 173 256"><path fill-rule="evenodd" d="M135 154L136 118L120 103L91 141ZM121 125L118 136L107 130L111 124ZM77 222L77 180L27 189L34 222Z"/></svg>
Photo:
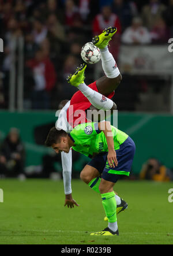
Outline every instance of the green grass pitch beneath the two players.
<svg viewBox="0 0 173 256"><path fill-rule="evenodd" d="M72 187L80 207L68 209L62 181L0 180L0 244L173 244L173 183L118 181L129 203L118 214L119 236L89 236L107 226L100 195L80 180Z"/></svg>

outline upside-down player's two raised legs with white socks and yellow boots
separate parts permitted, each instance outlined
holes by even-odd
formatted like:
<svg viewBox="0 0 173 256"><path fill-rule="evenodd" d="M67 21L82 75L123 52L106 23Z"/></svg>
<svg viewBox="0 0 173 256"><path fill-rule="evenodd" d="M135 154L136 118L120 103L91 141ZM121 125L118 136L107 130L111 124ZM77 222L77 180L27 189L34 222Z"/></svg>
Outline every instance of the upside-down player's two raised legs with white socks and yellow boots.
<svg viewBox="0 0 173 256"><path fill-rule="evenodd" d="M115 33L116 28L111 27L105 29L99 36L95 36L95 38L93 38L93 43L100 49L103 71L106 74L106 76L101 77L96 81L96 86L98 92L106 97L114 92L122 80L121 73L119 72L114 57L108 50L108 42L112 39L112 36L114 36ZM72 86L77 87L96 109L115 110L116 105L111 102L110 99L106 99L106 101L104 101L104 105L106 106L103 106L103 104L100 104L100 95L97 92L93 92L91 88L86 86L84 83L85 69L86 65L81 65L77 68L74 75L68 77L67 81L72 84Z"/></svg>

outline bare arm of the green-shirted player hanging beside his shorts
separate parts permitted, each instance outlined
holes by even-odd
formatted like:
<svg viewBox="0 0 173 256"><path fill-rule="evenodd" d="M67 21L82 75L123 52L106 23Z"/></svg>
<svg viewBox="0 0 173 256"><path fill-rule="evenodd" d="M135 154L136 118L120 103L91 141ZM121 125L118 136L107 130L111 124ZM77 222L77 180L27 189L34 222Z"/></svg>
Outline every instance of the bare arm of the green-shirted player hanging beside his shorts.
<svg viewBox="0 0 173 256"><path fill-rule="evenodd" d="M116 151L114 149L114 138L112 134L111 124L108 121L104 121L99 123L98 125L100 131L104 132L104 135L106 136L107 140L107 146L108 146L108 165L110 167L115 168L115 166L118 165L118 161L116 159Z"/></svg>

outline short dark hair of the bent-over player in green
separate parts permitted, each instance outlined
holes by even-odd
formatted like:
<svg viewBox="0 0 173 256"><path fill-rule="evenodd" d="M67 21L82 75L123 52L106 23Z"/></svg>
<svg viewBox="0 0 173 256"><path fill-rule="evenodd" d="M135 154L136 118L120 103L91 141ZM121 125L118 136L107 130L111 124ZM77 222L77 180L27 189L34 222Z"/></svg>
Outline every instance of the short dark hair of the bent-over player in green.
<svg viewBox="0 0 173 256"><path fill-rule="evenodd" d="M52 127L47 135L45 145L51 147L53 144L59 143L62 136L67 136L67 133L63 130L57 130L56 127Z"/></svg>

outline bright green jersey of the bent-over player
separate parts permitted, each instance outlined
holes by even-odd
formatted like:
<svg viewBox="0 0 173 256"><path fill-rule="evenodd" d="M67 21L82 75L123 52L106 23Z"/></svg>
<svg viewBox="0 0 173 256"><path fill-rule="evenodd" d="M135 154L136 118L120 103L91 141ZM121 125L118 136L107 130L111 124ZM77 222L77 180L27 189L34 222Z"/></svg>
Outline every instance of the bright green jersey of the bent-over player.
<svg viewBox="0 0 173 256"><path fill-rule="evenodd" d="M111 125L114 138L114 149L118 150L119 146L125 142L128 135ZM107 152L107 140L103 131L100 131L97 123L79 124L69 134L74 142L72 147L75 151L92 157L93 155Z"/></svg>

